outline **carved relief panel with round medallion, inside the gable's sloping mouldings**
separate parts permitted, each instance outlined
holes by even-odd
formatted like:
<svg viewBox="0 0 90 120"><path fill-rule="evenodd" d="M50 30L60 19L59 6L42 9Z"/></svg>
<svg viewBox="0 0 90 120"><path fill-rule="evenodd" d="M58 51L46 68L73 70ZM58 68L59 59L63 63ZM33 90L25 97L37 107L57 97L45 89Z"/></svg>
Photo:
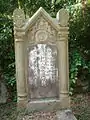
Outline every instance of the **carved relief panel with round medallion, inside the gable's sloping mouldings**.
<svg viewBox="0 0 90 120"><path fill-rule="evenodd" d="M44 19L39 18L32 29L29 30L30 41L55 41L56 30Z"/></svg>

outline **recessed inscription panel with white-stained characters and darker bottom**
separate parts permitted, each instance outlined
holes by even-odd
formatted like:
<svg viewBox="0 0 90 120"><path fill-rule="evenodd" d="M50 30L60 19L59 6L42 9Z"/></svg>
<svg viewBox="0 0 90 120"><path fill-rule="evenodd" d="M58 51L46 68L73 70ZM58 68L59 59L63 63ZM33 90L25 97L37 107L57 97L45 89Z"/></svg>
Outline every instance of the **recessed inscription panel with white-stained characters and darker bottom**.
<svg viewBox="0 0 90 120"><path fill-rule="evenodd" d="M57 49L37 44L29 49L28 81L31 98L58 97Z"/></svg>

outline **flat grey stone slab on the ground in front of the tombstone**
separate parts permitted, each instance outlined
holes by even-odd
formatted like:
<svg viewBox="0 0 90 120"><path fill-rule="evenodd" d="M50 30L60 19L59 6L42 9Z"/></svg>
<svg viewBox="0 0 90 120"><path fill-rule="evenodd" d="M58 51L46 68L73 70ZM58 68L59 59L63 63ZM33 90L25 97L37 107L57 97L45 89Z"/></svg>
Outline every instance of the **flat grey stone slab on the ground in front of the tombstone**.
<svg viewBox="0 0 90 120"><path fill-rule="evenodd" d="M77 120L71 110L57 112L57 120Z"/></svg>

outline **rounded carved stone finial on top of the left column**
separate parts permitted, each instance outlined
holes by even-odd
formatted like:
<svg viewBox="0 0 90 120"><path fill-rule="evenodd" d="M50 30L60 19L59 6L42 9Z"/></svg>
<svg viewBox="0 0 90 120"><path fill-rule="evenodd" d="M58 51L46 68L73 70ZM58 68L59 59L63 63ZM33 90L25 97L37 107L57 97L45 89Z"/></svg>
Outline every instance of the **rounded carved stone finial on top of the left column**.
<svg viewBox="0 0 90 120"><path fill-rule="evenodd" d="M22 9L15 9L13 12L13 21L14 25L18 28L21 28L25 22L25 15Z"/></svg>

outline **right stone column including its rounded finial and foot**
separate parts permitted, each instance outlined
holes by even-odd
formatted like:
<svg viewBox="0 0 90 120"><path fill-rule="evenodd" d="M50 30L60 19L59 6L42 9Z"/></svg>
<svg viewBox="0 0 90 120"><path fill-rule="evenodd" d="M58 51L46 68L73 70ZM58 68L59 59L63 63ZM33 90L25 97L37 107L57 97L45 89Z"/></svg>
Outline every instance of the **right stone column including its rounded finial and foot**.
<svg viewBox="0 0 90 120"><path fill-rule="evenodd" d="M68 13L61 9L57 14L57 20L60 26L58 32L58 63L59 63L59 99L61 106L68 108L69 101L69 67L68 67Z"/></svg>

